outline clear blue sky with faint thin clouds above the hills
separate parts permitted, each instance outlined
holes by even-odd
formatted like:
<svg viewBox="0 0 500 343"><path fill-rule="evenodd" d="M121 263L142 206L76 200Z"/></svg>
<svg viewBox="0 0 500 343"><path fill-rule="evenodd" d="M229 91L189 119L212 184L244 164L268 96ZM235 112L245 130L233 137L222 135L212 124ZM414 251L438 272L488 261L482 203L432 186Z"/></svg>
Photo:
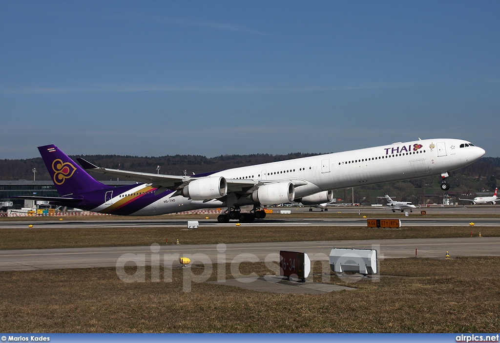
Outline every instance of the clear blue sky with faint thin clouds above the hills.
<svg viewBox="0 0 500 343"><path fill-rule="evenodd" d="M0 0L0 159L500 156L500 1Z"/></svg>

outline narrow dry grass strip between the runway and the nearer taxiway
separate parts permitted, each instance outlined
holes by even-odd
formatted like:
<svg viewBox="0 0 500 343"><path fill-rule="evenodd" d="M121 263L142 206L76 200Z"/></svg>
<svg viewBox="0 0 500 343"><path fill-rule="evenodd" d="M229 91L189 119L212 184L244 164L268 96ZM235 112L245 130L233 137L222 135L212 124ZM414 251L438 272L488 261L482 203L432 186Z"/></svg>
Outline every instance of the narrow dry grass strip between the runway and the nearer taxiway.
<svg viewBox="0 0 500 343"><path fill-rule="evenodd" d="M39 249L57 247L133 246L165 244L217 244L347 239L439 238L500 236L500 227L492 226L408 226L400 229L366 228L363 226L185 226L158 227L73 227L13 228L0 230L0 249Z"/></svg>

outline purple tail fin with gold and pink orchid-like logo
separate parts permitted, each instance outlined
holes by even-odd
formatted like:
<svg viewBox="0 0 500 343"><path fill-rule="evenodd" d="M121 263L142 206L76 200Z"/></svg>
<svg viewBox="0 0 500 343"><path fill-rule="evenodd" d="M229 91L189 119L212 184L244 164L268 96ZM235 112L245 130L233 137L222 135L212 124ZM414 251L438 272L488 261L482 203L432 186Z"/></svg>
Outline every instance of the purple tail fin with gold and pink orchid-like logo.
<svg viewBox="0 0 500 343"><path fill-rule="evenodd" d="M57 192L64 196L109 188L96 181L83 168L53 144L38 146L41 158L55 184Z"/></svg>

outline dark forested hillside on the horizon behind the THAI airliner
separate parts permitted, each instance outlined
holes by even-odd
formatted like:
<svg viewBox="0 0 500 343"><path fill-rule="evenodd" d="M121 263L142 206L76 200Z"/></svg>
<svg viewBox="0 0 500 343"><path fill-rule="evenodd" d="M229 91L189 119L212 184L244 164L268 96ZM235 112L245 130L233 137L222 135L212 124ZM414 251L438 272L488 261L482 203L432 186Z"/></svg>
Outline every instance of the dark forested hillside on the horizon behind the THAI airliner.
<svg viewBox="0 0 500 343"><path fill-rule="evenodd" d="M289 153L286 155L250 154L220 155L205 157L200 155L172 155L159 157L141 157L129 155L74 155L72 159L82 157L98 166L140 172L182 175L222 170L238 166L279 161L315 155L313 153ZM159 166L159 170L157 167ZM34 175L33 169L36 169ZM98 180L110 180L109 177L92 173ZM29 159L0 160L0 180L50 180L48 171L41 157ZM477 192L492 191L500 183L500 157L482 157L462 169L450 173L450 190L445 194L440 190L440 177L429 176L407 181L380 183L354 188L354 202L379 202L378 196L384 193L396 199L414 203L441 203L443 196L470 197ZM335 197L342 201L352 201L352 190L335 191Z"/></svg>

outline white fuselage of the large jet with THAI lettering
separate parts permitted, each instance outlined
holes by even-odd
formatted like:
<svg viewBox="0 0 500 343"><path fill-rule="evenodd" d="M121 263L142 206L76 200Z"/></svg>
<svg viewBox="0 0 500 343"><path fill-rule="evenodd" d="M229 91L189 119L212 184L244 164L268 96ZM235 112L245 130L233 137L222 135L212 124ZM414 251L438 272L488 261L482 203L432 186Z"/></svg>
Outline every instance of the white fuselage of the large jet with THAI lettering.
<svg viewBox="0 0 500 343"><path fill-rule="evenodd" d="M394 143L277 162L231 168L210 176L267 181L302 180L295 198L324 190L439 175L479 159L484 150L462 139L438 138ZM169 198L169 199L167 199ZM247 197L236 202L251 204ZM134 215L172 213L224 206L219 200L191 200L181 195L164 197Z"/></svg>

